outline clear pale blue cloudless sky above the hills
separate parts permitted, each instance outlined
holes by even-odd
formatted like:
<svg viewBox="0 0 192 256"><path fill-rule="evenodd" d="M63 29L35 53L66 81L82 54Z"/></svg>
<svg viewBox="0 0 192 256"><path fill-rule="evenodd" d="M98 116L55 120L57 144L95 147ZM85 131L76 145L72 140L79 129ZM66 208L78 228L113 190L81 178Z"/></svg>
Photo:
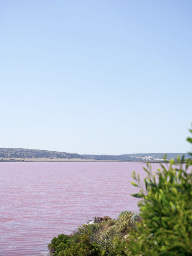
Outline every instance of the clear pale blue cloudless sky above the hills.
<svg viewBox="0 0 192 256"><path fill-rule="evenodd" d="M2 0L0 147L188 152L192 1Z"/></svg>

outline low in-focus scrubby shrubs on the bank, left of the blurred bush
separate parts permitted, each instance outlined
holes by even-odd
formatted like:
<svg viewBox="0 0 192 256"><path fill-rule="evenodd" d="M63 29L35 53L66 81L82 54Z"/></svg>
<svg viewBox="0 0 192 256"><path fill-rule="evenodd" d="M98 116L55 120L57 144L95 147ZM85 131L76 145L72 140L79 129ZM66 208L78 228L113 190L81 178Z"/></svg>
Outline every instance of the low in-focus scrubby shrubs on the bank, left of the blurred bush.
<svg viewBox="0 0 192 256"><path fill-rule="evenodd" d="M50 255L125 255L116 245L118 239L123 239L127 232L133 231L135 222L131 220L132 215L133 213L126 211L117 220L112 220L109 216L95 217L94 222L82 225L70 236L61 234L54 237L48 245Z"/></svg>

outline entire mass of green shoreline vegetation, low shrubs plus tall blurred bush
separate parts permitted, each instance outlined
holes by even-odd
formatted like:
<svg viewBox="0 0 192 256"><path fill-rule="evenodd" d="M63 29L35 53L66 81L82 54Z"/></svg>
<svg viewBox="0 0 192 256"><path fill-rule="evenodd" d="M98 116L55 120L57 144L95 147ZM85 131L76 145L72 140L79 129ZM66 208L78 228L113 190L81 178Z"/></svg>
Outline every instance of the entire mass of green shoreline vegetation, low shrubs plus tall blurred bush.
<svg viewBox="0 0 192 256"><path fill-rule="evenodd" d="M144 170L144 185L136 173L132 182L140 188L133 195L142 198L140 215L125 211L117 220L95 217L72 235L53 238L51 255L192 255L192 159L178 157L155 173L149 164Z"/></svg>

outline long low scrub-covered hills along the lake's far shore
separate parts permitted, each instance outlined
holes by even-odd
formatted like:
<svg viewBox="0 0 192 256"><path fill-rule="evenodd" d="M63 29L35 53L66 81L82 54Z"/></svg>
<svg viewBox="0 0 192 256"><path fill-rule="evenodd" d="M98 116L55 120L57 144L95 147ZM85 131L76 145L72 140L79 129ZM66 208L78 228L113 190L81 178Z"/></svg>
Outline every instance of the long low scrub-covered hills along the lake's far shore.
<svg viewBox="0 0 192 256"><path fill-rule="evenodd" d="M183 153L167 153L167 159L176 159ZM185 158L190 155L184 154ZM79 155L76 153L48 151L40 149L0 148L0 161L163 161L164 153L124 154L124 155Z"/></svg>

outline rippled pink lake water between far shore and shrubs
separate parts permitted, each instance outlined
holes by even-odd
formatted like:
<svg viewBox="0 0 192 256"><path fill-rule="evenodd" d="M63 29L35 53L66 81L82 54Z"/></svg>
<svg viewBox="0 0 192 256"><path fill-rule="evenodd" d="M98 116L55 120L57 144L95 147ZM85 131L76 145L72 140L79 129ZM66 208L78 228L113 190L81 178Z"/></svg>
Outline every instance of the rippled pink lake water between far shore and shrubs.
<svg viewBox="0 0 192 256"><path fill-rule="evenodd" d="M0 255L48 255L47 244L70 234L94 216L117 218L138 212L133 171L145 164L126 162L0 163ZM156 170L158 164L153 164Z"/></svg>

